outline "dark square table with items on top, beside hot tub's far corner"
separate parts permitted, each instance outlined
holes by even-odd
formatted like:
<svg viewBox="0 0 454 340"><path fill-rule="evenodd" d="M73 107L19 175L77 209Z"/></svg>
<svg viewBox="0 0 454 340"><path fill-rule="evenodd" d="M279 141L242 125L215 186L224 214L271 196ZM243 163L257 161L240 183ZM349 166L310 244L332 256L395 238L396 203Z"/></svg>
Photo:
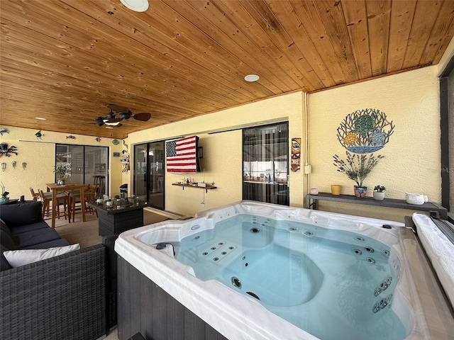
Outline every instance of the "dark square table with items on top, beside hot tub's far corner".
<svg viewBox="0 0 454 340"><path fill-rule="evenodd" d="M114 205L112 208L106 207L106 203L97 205L87 203L90 207L98 211L99 235L118 235L126 230L143 226L143 208L148 207L148 203L139 200L138 203L124 203L120 208Z"/></svg>

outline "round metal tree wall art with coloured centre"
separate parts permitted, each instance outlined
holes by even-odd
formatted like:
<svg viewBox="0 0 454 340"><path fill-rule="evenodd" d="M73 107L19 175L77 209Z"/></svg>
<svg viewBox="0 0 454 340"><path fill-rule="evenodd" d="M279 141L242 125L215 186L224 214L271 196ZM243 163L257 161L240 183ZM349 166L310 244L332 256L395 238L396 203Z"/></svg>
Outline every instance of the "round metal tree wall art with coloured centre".
<svg viewBox="0 0 454 340"><path fill-rule="evenodd" d="M367 154L382 149L394 132L392 121L375 108L357 110L347 115L338 127L337 137L345 149Z"/></svg>

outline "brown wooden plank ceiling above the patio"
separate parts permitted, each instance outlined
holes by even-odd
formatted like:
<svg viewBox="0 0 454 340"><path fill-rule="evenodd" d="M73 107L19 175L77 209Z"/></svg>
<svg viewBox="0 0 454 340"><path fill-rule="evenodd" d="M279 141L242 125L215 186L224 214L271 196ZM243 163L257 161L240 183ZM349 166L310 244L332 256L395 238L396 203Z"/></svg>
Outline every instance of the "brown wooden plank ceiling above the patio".
<svg viewBox="0 0 454 340"><path fill-rule="evenodd" d="M2 0L0 18L1 125L123 138L437 64L454 1L150 0L138 13L119 0ZM152 118L99 127L106 103Z"/></svg>

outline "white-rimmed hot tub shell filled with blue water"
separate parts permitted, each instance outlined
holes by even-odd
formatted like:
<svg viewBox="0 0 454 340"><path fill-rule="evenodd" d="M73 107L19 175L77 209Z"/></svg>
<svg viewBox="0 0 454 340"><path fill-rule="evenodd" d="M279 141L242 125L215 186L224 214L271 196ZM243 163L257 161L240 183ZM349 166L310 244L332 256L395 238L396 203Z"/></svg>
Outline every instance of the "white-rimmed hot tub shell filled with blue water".
<svg viewBox="0 0 454 340"><path fill-rule="evenodd" d="M115 249L227 339L454 331L414 232L398 222L243 201L124 232Z"/></svg>

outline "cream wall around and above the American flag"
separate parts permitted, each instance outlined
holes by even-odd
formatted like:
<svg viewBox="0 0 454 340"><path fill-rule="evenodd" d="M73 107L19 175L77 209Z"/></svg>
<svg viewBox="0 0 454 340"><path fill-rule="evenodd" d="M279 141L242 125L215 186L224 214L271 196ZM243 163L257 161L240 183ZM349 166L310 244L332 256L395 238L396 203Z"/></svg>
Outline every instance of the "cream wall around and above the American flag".
<svg viewBox="0 0 454 340"><path fill-rule="evenodd" d="M199 188L182 190L181 187L172 186L172 183L181 181L183 175L168 174L167 172L165 174L166 210L182 215L194 215L197 211L237 202L242 198L241 131L233 130L214 134L208 134L208 132L288 120L289 137L303 138L303 104L304 95L301 92L277 96L179 123L135 132L129 135L128 142L133 150L133 145L143 142L171 140L175 137L189 135L200 137L199 145L204 147L204 159L201 160L201 167L204 169L205 181L207 183L214 181L218 188L208 191L208 193ZM191 177L195 181L201 181L202 176L200 173ZM131 179L132 173L129 179L130 187ZM289 181L291 183L290 204L302 206L304 174L301 171L292 172ZM203 201L205 207L200 204Z"/></svg>

